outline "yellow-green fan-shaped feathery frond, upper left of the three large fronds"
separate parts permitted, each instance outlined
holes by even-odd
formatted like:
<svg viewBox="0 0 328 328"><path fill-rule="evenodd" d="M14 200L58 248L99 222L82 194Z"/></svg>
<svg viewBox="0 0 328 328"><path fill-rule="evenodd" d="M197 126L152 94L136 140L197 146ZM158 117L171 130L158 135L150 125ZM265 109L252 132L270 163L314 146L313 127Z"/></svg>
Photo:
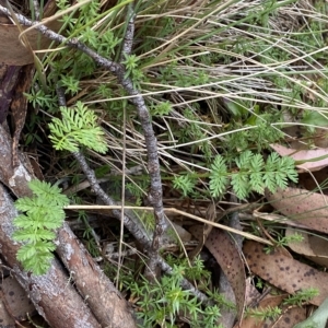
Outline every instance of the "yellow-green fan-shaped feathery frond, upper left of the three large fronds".
<svg viewBox="0 0 328 328"><path fill-rule="evenodd" d="M73 108L60 107L62 119L52 118L49 136L56 150L79 151L86 147L99 153L107 151L104 131L97 126L97 116L81 102Z"/></svg>

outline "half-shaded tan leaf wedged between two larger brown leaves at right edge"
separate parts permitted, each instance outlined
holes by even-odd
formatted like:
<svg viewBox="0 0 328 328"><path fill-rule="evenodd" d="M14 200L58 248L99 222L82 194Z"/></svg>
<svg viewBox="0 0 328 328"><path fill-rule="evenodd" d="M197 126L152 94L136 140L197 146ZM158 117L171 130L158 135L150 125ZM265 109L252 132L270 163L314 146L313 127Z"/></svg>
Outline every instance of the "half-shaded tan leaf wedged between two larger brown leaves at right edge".
<svg viewBox="0 0 328 328"><path fill-rule="evenodd" d="M315 263L328 267L328 241L320 236L313 236L306 232L300 232L292 227L286 229L285 236L290 236L295 233L302 235L303 241L300 243L291 242L289 243L289 247L293 251L304 255Z"/></svg>

